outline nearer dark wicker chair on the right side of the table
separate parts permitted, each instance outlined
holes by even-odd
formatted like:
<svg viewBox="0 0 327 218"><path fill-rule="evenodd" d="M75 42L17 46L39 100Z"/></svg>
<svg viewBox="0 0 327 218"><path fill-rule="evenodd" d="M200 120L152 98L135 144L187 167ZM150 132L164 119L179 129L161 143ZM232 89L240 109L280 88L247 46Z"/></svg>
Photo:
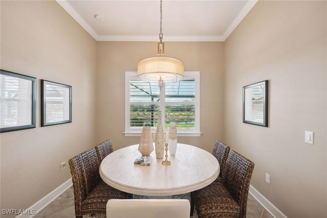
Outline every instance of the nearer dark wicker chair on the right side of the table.
<svg viewBox="0 0 327 218"><path fill-rule="evenodd" d="M246 217L246 204L254 163L230 151L221 182L193 192L199 218Z"/></svg>

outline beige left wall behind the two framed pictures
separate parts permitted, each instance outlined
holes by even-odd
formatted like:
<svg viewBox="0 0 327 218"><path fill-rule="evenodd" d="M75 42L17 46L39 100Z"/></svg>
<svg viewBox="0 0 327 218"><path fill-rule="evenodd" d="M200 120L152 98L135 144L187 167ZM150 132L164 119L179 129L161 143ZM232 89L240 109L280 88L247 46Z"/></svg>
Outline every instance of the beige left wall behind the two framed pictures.
<svg viewBox="0 0 327 218"><path fill-rule="evenodd" d="M1 133L1 209L26 209L95 143L96 41L55 1L1 1L1 69L37 78L37 127ZM73 87L73 122L40 127L40 79ZM8 216L9 217L9 216Z"/></svg>

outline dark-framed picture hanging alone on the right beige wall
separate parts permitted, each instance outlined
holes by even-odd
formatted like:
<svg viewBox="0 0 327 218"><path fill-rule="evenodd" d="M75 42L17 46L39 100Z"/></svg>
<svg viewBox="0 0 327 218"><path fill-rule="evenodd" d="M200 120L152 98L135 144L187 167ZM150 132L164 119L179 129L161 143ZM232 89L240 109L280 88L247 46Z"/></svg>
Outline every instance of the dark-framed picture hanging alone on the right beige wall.
<svg viewBox="0 0 327 218"><path fill-rule="evenodd" d="M243 86L243 123L268 127L268 80Z"/></svg>

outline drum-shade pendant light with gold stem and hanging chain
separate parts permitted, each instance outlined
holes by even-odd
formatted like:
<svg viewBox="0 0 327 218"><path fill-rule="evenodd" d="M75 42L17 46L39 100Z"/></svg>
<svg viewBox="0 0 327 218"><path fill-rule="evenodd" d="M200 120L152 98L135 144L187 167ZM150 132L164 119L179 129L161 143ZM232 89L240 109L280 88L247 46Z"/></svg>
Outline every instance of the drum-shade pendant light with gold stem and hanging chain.
<svg viewBox="0 0 327 218"><path fill-rule="evenodd" d="M184 63L176 58L165 57L165 43L162 42L162 0L160 0L160 34L158 56L145 58L137 64L137 77L145 82L158 81L159 87L164 82L177 82L184 78Z"/></svg>

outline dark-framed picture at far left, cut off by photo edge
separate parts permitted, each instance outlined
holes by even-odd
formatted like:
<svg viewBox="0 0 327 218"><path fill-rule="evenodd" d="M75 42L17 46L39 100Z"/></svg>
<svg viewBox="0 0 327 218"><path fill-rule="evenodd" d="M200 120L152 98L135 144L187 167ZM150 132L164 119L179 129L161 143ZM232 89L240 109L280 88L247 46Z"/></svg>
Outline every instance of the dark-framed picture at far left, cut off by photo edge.
<svg viewBox="0 0 327 218"><path fill-rule="evenodd" d="M0 69L0 132L36 127L36 78Z"/></svg>

